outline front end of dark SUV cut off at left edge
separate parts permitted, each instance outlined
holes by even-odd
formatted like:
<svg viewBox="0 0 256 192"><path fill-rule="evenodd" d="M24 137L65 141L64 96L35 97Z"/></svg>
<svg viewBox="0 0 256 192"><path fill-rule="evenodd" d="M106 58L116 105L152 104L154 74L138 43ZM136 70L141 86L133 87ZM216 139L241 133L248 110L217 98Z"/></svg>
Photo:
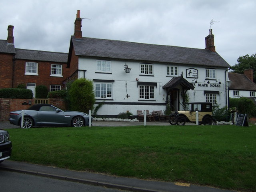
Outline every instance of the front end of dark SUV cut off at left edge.
<svg viewBox="0 0 256 192"><path fill-rule="evenodd" d="M12 154L12 142L8 131L0 129L0 163L10 158Z"/></svg>

